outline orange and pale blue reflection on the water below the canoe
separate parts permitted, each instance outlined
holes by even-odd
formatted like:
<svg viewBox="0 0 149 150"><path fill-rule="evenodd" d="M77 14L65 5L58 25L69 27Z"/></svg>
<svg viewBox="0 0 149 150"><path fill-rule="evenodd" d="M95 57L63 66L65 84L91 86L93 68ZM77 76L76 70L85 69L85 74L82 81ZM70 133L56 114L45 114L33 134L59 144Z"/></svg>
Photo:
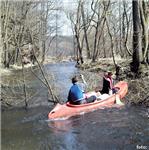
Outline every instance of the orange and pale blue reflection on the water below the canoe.
<svg viewBox="0 0 149 150"><path fill-rule="evenodd" d="M80 131L76 127L82 123L80 116L72 117L67 120L49 121L48 126L55 138L53 150L86 150L86 145L79 142Z"/></svg>

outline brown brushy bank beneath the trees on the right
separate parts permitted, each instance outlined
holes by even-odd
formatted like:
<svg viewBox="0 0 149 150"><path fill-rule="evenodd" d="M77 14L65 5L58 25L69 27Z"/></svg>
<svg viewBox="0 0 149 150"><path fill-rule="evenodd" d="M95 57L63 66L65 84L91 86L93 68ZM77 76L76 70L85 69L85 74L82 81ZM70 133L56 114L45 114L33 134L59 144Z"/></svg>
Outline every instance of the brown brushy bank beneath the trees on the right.
<svg viewBox="0 0 149 150"><path fill-rule="evenodd" d="M140 74L135 76L130 71L130 62L131 60L120 59L117 60L118 65L120 66L119 75L115 78L117 81L125 80L128 82L128 94L125 97L125 102L127 104L134 105L144 105L149 107L149 69L147 67L142 67ZM112 59L100 59L98 62L86 62L83 65L77 66L82 70L89 72L100 73L107 70L112 71L114 74L115 67Z"/></svg>

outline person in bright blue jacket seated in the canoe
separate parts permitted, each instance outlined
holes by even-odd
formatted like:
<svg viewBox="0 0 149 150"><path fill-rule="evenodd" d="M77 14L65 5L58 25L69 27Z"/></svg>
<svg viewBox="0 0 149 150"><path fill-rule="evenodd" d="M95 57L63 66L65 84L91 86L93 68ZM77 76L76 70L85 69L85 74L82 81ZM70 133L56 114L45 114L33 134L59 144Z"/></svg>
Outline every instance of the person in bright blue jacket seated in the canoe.
<svg viewBox="0 0 149 150"><path fill-rule="evenodd" d="M83 76L81 75L82 80L84 81ZM81 86L78 84L78 77L74 76L72 78L72 86L69 90L69 94L68 94L68 101L71 104L76 104L76 105L80 105L80 104L84 104L84 103L90 103L96 100L96 96L91 96L89 98L85 97L84 91L83 89L81 89ZM85 83L86 84L86 83Z"/></svg>

